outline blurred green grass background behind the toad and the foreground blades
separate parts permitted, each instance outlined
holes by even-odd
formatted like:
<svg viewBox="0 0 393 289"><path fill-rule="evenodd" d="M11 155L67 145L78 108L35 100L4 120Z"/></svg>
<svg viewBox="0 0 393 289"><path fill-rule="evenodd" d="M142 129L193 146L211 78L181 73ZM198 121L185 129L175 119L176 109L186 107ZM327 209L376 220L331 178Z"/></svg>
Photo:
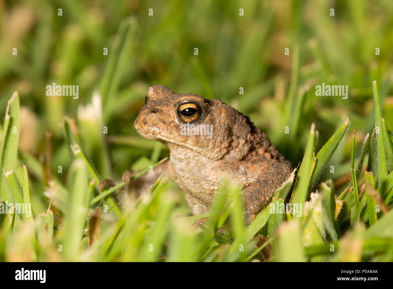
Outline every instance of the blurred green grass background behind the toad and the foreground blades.
<svg viewBox="0 0 393 289"><path fill-rule="evenodd" d="M145 168L169 154L133 128L154 83L222 99L250 116L293 167L303 158L313 122L320 148L349 117L360 154L375 122L373 80L387 127L393 127L391 0L0 0L0 15L0 115L18 91L18 163L30 174L35 217L50 202L43 195L48 180L66 184L72 173L65 116L73 128L77 124L75 135L103 178L119 179L125 169ZM46 96L53 82L79 85L79 98ZM323 82L348 85L348 99L315 96ZM92 100L95 91L102 103ZM344 136L329 163L335 172L327 170L322 180L348 175L351 140Z"/></svg>

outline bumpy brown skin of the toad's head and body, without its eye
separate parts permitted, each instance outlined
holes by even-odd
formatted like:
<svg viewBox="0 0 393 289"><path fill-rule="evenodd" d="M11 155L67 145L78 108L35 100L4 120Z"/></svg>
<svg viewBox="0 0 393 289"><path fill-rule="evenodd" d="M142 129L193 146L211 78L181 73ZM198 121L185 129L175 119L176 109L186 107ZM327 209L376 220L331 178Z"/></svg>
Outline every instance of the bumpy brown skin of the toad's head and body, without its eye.
<svg viewBox="0 0 393 289"><path fill-rule="evenodd" d="M184 135L184 122L178 114L178 107L184 103L195 103L201 108L200 117L192 123L213 125L211 138ZM169 147L168 171L184 190L190 208L198 205L195 214L208 213L219 181L226 175L241 184L250 223L291 173L290 162L279 154L266 134L247 116L219 99L175 94L165 86L152 85L134 127L143 137Z"/></svg>

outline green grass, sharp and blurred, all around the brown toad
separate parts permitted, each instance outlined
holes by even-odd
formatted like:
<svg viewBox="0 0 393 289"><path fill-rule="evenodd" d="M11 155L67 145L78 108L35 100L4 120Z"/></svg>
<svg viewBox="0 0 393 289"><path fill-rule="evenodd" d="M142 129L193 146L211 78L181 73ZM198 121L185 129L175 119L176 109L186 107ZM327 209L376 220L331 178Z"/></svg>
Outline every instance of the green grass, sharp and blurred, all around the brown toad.
<svg viewBox="0 0 393 289"><path fill-rule="evenodd" d="M393 5L326 3L6 4L24 26L0 37L0 261L393 261ZM79 98L46 96L53 82ZM302 214L268 206L246 226L229 180L202 216L163 177L129 210L112 197L124 183L98 190L169 155L133 129L152 83L249 115L294 168L272 206Z"/></svg>

